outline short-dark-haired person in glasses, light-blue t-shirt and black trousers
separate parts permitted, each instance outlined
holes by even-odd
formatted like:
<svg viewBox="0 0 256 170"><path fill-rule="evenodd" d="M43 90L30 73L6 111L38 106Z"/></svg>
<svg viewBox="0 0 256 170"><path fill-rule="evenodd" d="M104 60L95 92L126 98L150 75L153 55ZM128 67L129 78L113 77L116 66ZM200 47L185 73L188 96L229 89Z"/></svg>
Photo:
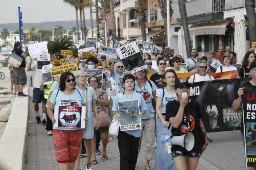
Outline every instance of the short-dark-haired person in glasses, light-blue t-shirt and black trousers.
<svg viewBox="0 0 256 170"><path fill-rule="evenodd" d="M141 94L134 91L135 78L127 74L123 77L125 91L116 95L112 111L120 121L118 101L137 100L139 102L139 117L142 118L146 112L146 104ZM124 130L119 128L117 142L120 152L120 170L134 170L138 158L138 146L141 137L141 129Z"/></svg>

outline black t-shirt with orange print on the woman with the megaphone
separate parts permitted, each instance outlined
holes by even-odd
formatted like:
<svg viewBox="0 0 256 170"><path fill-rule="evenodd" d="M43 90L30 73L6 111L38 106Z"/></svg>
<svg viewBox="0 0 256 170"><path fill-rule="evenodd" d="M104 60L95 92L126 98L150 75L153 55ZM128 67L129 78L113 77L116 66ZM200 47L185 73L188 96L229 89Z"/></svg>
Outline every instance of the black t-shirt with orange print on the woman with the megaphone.
<svg viewBox="0 0 256 170"><path fill-rule="evenodd" d="M166 104L166 113L165 113L165 120L169 121L169 118L175 117L176 114L178 113L179 110L179 102L177 100L170 101ZM186 106L189 109L189 114L190 114L190 121L189 121L189 127L194 134L195 137L195 147L193 150L190 152L201 152L201 139L199 138L198 135L198 125L199 125L199 118L202 118L202 111L200 108L200 105L198 101L196 100L191 100L189 104ZM186 110L186 108L185 108ZM185 112L186 113L186 112ZM177 132L174 134L174 136L181 136L189 130L189 128L186 126L187 125L187 119L186 115L184 114L181 125L178 127ZM171 128L171 133L173 134L175 132L176 128L172 127ZM173 145L171 147L171 150L176 150L176 151L181 151L181 152L187 152L185 148L179 145Z"/></svg>

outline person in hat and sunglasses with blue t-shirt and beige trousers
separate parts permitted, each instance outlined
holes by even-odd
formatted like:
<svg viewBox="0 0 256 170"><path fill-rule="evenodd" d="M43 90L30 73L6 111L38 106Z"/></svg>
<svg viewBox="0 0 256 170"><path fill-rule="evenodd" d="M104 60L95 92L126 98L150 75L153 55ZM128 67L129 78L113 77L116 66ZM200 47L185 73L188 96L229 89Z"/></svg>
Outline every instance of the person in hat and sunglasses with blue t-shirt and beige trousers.
<svg viewBox="0 0 256 170"><path fill-rule="evenodd" d="M142 118L141 123L141 140L144 133L146 143L145 169L151 170L149 161L155 159L155 110L152 106L152 96L155 100L156 85L147 80L149 69L143 69L136 72L135 91L140 93L146 102L146 114ZM141 145L139 146L140 151Z"/></svg>

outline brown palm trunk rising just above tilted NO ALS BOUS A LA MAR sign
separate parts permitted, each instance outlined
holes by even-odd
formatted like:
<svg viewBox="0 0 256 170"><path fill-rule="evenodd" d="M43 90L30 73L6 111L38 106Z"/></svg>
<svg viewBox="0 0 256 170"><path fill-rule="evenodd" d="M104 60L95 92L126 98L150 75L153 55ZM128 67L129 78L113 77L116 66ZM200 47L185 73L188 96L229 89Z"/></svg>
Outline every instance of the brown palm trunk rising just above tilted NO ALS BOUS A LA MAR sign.
<svg viewBox="0 0 256 170"><path fill-rule="evenodd" d="M144 12L143 6L142 6L142 0L138 0L138 8L139 8L139 25L141 26L141 35L142 35L142 41L146 41L146 14ZM128 15L128 14L126 14ZM128 27L128 25L126 26Z"/></svg>

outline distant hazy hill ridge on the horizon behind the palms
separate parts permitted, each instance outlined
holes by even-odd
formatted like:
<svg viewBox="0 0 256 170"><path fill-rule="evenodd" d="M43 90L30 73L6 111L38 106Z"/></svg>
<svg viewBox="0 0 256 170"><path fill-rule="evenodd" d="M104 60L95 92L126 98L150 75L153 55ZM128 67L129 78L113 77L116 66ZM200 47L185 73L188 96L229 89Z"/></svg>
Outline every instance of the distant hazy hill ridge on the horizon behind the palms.
<svg viewBox="0 0 256 170"><path fill-rule="evenodd" d="M87 29L90 26L90 19L85 20ZM52 30L53 26L63 26L65 30L72 29L72 27L77 26L76 20L72 21L51 21L51 22L40 22L40 23L23 23L22 29L29 29L30 27L37 27L39 30ZM93 20L93 26L96 25L96 19ZM80 21L79 21L80 27ZM19 23L9 23L9 24L0 24L0 29L7 28L11 31L16 31L19 29Z"/></svg>

